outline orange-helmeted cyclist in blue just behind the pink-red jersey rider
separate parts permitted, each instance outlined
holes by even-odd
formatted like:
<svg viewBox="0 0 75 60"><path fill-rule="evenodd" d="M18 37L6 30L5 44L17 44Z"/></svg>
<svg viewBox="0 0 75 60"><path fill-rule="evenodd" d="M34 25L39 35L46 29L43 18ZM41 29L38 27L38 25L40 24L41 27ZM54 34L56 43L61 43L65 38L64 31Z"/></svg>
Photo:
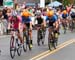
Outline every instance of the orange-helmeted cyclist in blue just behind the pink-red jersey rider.
<svg viewBox="0 0 75 60"><path fill-rule="evenodd" d="M29 35L30 35L30 46L32 47L32 21L30 18L31 14L28 12L27 9L24 9L22 12L22 23L24 25L24 29L26 27L29 29Z"/></svg>

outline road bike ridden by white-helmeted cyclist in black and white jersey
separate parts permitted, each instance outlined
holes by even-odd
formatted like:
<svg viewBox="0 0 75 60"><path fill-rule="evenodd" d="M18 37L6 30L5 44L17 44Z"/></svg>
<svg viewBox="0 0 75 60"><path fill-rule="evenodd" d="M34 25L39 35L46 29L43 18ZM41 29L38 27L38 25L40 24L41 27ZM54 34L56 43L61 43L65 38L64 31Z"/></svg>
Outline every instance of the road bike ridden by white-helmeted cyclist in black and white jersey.
<svg viewBox="0 0 75 60"><path fill-rule="evenodd" d="M45 40L45 34L46 34L46 29L42 28L41 25L36 25L38 28L37 31L37 44L40 46L40 43L44 45L44 40Z"/></svg>

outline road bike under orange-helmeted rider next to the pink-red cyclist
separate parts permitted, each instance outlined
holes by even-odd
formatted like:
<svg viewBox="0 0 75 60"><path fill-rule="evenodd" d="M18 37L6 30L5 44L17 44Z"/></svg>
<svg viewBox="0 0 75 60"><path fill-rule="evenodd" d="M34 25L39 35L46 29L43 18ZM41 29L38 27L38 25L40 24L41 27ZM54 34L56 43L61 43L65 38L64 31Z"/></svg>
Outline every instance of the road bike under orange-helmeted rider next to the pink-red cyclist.
<svg viewBox="0 0 75 60"><path fill-rule="evenodd" d="M27 46L28 46L29 50L32 49L32 46L31 46L31 43L30 43L29 31L30 31L30 29L27 28L27 27L23 31L23 40L24 40L23 50L25 52L27 51Z"/></svg>

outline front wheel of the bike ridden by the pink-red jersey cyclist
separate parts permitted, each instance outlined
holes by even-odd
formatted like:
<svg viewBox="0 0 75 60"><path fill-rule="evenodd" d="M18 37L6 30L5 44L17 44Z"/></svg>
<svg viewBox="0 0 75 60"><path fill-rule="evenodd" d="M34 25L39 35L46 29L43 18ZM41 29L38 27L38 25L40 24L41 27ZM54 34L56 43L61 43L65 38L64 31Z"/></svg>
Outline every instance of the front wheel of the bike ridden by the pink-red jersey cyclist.
<svg viewBox="0 0 75 60"><path fill-rule="evenodd" d="M12 59L15 57L15 52L16 52L15 40L14 40L14 37L11 37L11 40L10 40L10 56L11 56Z"/></svg>

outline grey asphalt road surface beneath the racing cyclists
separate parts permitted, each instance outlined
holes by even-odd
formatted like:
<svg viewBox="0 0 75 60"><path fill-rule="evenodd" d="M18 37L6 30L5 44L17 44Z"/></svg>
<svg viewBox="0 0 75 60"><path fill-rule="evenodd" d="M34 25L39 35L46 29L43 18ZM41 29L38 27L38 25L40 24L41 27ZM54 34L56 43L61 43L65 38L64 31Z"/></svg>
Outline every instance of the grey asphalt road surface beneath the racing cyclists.
<svg viewBox="0 0 75 60"><path fill-rule="evenodd" d="M22 52L21 56L18 56L16 53L16 56L14 59L11 59L10 57L10 36L1 36L0 37L0 60L32 60L36 56L47 52L46 54L43 54L42 59L33 59L33 60L75 60L75 32L67 31L66 34L63 34L63 31L60 31L61 34L59 36L58 41L58 47L56 50L49 51L48 50L48 44L47 44L47 38L48 38L48 31L46 31L46 37L45 37L45 44L41 46L37 46L37 32L36 30L33 30L33 48L32 51L27 50L26 53ZM70 43L73 40L72 43ZM68 42L66 42L68 41ZM64 43L64 44L63 44ZM67 44L70 43L70 44ZM66 45L67 44L67 45ZM61 46L60 46L61 45ZM44 56L46 55L46 56Z"/></svg>

